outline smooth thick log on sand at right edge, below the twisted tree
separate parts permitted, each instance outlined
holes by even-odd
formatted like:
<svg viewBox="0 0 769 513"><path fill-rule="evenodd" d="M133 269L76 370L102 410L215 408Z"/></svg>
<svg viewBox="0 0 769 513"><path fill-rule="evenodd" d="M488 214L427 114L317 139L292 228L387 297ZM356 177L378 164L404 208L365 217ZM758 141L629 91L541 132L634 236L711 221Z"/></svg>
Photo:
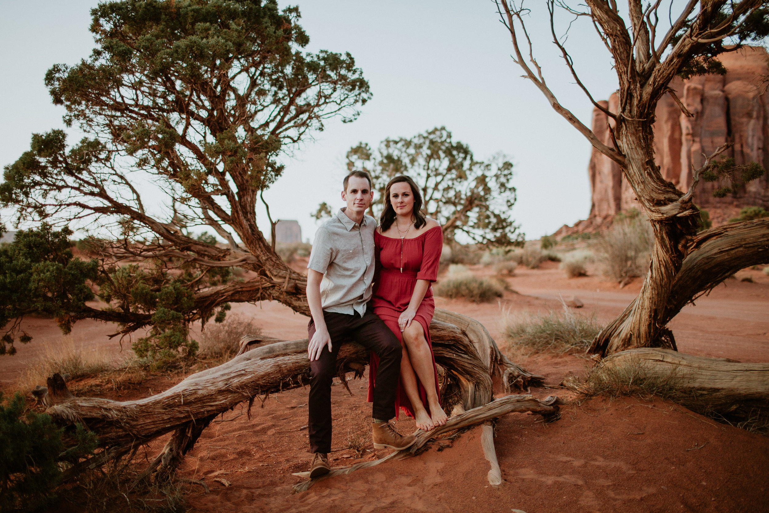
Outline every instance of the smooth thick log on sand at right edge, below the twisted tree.
<svg viewBox="0 0 769 513"><path fill-rule="evenodd" d="M662 348L636 348L604 358L584 385L568 388L591 392L598 382L634 385L694 411L729 419L769 413L769 364L705 358ZM632 381L632 382L631 382Z"/></svg>

